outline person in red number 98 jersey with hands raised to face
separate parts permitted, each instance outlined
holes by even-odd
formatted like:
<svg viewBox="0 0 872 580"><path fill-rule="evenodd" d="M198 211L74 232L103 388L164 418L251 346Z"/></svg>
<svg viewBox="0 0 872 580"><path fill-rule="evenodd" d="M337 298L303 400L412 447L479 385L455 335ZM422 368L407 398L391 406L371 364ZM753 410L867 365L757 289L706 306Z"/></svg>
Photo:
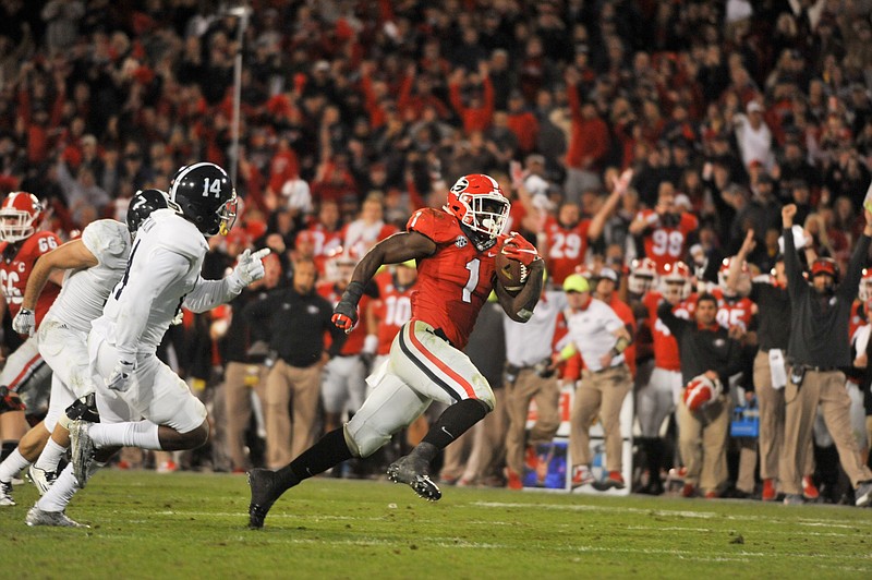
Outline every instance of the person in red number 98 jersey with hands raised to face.
<svg viewBox="0 0 872 580"><path fill-rule="evenodd" d="M630 223L629 232L644 235L645 257L653 259L657 264L657 273L663 274L668 264L685 259L690 246L688 239L699 227L697 216L675 204L671 184L662 183L657 206L639 212Z"/></svg>

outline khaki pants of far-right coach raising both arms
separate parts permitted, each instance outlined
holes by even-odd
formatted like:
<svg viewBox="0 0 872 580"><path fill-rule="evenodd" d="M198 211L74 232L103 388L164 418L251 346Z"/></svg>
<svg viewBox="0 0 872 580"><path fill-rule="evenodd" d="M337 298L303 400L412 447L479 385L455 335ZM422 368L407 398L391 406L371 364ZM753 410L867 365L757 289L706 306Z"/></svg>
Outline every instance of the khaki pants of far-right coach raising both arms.
<svg viewBox="0 0 872 580"><path fill-rule="evenodd" d="M818 406L824 415L826 428L838 449L841 468L857 487L861 481L872 480L872 471L860 458L857 439L851 431L848 390L845 374L839 371L806 371L802 385L797 388L788 375L785 387L785 471L782 484L787 494L801 494L802 484L799 466L804 466L810 452L810 443Z"/></svg>

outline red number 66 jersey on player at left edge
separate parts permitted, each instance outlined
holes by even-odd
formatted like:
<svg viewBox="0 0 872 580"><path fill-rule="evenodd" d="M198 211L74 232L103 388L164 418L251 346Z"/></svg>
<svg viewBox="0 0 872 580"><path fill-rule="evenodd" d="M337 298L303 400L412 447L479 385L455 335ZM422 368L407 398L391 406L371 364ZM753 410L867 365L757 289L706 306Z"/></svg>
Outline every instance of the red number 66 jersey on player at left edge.
<svg viewBox="0 0 872 580"><path fill-rule="evenodd" d="M9 314L14 318L21 310L24 301L24 289L27 288L27 280L34 270L34 264L43 254L47 254L61 244L60 238L50 231L38 231L21 242L21 244L10 244L0 242L0 283L2 283L3 298L7 299ZM36 325L43 321L48 309L55 303L55 299L61 291L61 287L52 281L46 283L43 293L36 301Z"/></svg>

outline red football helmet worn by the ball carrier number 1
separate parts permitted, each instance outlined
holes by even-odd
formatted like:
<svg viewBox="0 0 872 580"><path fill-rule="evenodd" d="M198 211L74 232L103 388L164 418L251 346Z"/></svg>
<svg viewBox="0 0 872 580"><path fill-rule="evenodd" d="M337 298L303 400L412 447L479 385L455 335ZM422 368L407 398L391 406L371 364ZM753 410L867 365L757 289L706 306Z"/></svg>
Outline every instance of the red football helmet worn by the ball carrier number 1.
<svg viewBox="0 0 872 580"><path fill-rule="evenodd" d="M445 209L472 230L473 243L481 251L496 242L509 217L509 201L499 183L489 176L463 176L448 191Z"/></svg>

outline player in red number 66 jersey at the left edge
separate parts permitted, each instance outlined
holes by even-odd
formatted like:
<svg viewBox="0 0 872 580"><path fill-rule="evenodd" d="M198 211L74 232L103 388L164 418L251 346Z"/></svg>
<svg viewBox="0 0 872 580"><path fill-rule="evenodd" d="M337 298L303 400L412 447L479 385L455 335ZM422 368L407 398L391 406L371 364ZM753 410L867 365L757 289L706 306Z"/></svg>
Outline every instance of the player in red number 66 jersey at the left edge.
<svg viewBox="0 0 872 580"><path fill-rule="evenodd" d="M3 307L9 309L13 318L19 314L34 264L39 256L61 243L52 232L36 231L41 218L39 200L27 192L10 193L0 205L0 287L3 293L0 317ZM60 293L62 280L62 271L52 274L39 295L35 311L37 326ZM15 449L19 439L27 432L25 408L36 411L39 397L47 397L50 388L51 370L39 355L36 338L32 336L7 358L0 373L0 437L3 442L0 460ZM48 431L37 442L39 445L45 445Z"/></svg>

